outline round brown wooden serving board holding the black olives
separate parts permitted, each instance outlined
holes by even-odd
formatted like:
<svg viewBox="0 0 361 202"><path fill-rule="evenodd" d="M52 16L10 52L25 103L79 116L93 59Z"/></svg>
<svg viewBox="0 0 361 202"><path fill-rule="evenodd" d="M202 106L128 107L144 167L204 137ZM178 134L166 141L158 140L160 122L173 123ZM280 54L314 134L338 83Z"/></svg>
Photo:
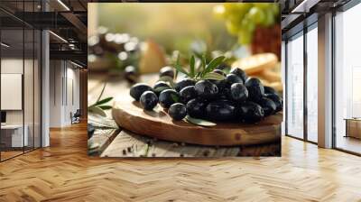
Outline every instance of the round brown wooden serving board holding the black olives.
<svg viewBox="0 0 361 202"><path fill-rule="evenodd" d="M130 96L116 100L112 114L116 124L126 130L171 142L219 146L281 142L282 114L268 116L257 124L218 123L213 127L202 127L172 121L159 105L153 111L143 111Z"/></svg>

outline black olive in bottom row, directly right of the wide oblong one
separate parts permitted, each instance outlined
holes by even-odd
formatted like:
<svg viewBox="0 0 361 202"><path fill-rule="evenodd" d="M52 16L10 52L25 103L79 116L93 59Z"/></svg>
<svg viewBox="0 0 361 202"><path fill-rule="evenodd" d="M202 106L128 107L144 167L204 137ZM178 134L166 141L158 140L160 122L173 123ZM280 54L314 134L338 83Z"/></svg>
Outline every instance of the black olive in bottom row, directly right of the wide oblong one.
<svg viewBox="0 0 361 202"><path fill-rule="evenodd" d="M245 123L254 124L264 118L264 109L254 102L245 102L239 107L239 115Z"/></svg>

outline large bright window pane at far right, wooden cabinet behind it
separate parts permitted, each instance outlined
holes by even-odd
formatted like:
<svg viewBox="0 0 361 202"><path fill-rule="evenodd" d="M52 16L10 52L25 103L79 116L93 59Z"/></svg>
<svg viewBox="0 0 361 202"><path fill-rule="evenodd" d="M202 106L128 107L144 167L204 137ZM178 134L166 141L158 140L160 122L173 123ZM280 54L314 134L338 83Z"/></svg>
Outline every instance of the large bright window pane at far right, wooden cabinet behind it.
<svg viewBox="0 0 361 202"><path fill-rule="evenodd" d="M335 121L336 147L361 153L361 4L335 17ZM350 119L346 121L345 119Z"/></svg>

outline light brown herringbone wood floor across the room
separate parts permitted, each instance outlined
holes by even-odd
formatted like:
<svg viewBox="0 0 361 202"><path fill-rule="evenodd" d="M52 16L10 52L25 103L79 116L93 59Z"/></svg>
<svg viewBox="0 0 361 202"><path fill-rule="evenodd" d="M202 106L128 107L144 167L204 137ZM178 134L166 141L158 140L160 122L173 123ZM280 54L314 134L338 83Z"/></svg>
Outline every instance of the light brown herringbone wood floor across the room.
<svg viewBox="0 0 361 202"><path fill-rule="evenodd" d="M282 139L282 158L87 156L86 124L0 163L0 201L361 201L361 158Z"/></svg>

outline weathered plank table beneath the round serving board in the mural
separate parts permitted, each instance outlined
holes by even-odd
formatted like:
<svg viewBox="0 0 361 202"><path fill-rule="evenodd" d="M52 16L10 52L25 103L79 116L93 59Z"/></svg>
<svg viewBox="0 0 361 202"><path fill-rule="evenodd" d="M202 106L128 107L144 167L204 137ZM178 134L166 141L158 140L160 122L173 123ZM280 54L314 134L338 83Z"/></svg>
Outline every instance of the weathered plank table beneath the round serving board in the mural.
<svg viewBox="0 0 361 202"><path fill-rule="evenodd" d="M146 75L140 78L144 83L153 84L157 75ZM119 77L89 74L88 76L88 104L96 102L102 88L106 84L102 97L124 96L129 93L131 86ZM88 123L96 126L94 135L88 140L90 155L101 157L237 157L237 156L280 156L280 142L259 144L252 146L201 146L182 142L166 142L154 140L118 128L106 112L107 117L88 114ZM98 126L98 127L97 127ZM107 126L107 127L104 127Z"/></svg>

